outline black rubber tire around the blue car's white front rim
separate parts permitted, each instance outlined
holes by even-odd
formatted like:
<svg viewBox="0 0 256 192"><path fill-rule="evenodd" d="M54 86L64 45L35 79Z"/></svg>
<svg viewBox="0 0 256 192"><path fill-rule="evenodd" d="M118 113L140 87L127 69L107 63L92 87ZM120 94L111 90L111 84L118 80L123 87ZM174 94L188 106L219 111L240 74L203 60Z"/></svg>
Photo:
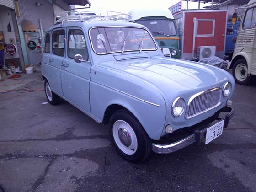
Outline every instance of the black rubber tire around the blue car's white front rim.
<svg viewBox="0 0 256 192"><path fill-rule="evenodd" d="M123 152L123 147L125 147L124 144L119 142L118 146L118 141L116 142L114 132L113 130L117 130L116 126L113 128L114 124L120 121L124 121L125 123L128 123L128 125L133 129L136 139L137 139L137 149L134 151L134 154L127 154ZM121 128L119 128L121 129ZM118 133L119 133L118 129ZM112 136L112 141L113 144L115 145L117 152L119 155L121 155L125 160L132 161L132 162L140 162L145 160L150 152L151 152L151 139L145 132L144 128L142 125L139 123L139 121L127 110L122 109L114 112L110 118L110 132ZM132 133L128 134L130 137L132 137ZM116 136L117 138L117 136ZM119 137L120 138L120 137ZM119 139L121 141L121 139ZM133 139L134 140L134 139ZM132 144L131 144L132 145ZM130 146L131 146L130 145ZM129 147L129 146L128 146ZM122 149L121 149L122 148Z"/></svg>

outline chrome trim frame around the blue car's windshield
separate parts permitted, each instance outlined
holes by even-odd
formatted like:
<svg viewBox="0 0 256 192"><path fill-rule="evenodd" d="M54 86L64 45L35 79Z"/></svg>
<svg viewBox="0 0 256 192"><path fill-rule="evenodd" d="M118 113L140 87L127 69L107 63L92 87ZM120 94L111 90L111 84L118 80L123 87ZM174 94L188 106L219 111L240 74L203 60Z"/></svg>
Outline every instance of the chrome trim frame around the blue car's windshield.
<svg viewBox="0 0 256 192"><path fill-rule="evenodd" d="M151 33L144 27L133 27L133 26L98 26L98 27L91 27L88 31L89 33L89 38L90 38L90 43L91 43L91 48L93 50L94 53L96 53L97 55L106 55L106 54L112 54L112 53L122 53L122 51L115 51L115 52L110 52L110 53L97 53L93 47L92 41L91 41L91 30L94 28L105 28L105 27L127 27L127 28L138 28L138 29L144 29L146 30L150 37L152 38L153 42L155 43L155 39L154 37L151 35ZM155 51L157 50L157 44L155 43L155 49L143 49L142 51ZM139 49L134 49L134 50L125 50L124 52L131 52L131 51L139 51Z"/></svg>

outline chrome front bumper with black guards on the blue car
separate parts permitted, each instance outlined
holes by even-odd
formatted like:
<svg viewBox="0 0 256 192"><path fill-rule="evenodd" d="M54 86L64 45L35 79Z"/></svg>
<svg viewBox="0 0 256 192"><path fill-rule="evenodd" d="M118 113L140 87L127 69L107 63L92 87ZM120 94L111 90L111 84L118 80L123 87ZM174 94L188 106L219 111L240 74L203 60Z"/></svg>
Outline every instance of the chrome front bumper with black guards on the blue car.
<svg viewBox="0 0 256 192"><path fill-rule="evenodd" d="M234 109L231 107L224 107L223 109L216 112L218 116L219 116L220 112L229 112L225 116L225 118L223 118L224 119L224 128L226 128L229 124L229 120L233 117ZM215 116L215 115L213 115L213 116ZM213 119L213 121L214 120L222 121L223 119L216 117ZM179 141L176 141L174 143L171 143L171 144L155 144L155 143L153 143L152 150L158 154L168 154L168 153L175 152L179 149L182 149L192 143L198 144L198 143L200 143L200 140L206 136L206 131L207 131L207 128L209 127L209 125L206 124L205 127L206 128L203 128L200 131L198 129L196 129L192 135L190 135L184 139L181 139Z"/></svg>

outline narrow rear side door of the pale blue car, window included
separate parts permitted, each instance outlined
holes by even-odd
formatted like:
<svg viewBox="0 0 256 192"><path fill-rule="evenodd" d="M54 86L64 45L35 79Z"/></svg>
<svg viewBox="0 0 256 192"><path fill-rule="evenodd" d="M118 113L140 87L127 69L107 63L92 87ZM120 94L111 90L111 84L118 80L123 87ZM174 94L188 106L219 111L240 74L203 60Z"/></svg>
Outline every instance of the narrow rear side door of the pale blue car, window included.
<svg viewBox="0 0 256 192"><path fill-rule="evenodd" d="M49 59L51 71L48 75L48 81L51 89L60 95L63 95L61 88L61 65L65 58L65 28L58 28L52 32L52 54Z"/></svg>

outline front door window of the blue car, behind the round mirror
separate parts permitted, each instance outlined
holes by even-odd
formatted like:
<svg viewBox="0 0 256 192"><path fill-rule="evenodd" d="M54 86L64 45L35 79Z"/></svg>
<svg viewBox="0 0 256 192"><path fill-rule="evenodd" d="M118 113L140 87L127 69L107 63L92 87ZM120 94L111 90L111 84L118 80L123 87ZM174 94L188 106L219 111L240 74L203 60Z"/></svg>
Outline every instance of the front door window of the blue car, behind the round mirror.
<svg viewBox="0 0 256 192"><path fill-rule="evenodd" d="M70 29L68 35L68 57L74 58L76 54L88 60L88 51L85 43L85 36L80 29Z"/></svg>

